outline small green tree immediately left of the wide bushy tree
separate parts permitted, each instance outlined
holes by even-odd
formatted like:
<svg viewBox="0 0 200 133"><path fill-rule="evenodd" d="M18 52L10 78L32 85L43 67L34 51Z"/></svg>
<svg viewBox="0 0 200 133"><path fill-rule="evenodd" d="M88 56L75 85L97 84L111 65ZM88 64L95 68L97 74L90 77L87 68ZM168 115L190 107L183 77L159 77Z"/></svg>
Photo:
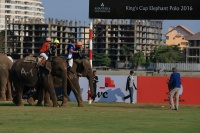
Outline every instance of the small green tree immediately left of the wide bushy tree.
<svg viewBox="0 0 200 133"><path fill-rule="evenodd" d="M133 66L144 66L146 61L144 59L144 54L142 51L139 51L138 53L135 53L133 57L130 58L130 61L132 62Z"/></svg>

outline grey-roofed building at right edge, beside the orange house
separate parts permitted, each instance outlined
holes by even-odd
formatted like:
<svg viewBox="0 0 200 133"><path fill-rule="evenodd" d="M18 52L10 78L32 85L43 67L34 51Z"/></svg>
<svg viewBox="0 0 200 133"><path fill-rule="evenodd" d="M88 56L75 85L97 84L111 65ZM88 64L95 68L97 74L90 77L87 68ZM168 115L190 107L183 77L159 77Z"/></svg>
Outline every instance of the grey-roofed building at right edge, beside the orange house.
<svg viewBox="0 0 200 133"><path fill-rule="evenodd" d="M183 61L186 63L200 63L200 32L187 37L188 47L183 49Z"/></svg>

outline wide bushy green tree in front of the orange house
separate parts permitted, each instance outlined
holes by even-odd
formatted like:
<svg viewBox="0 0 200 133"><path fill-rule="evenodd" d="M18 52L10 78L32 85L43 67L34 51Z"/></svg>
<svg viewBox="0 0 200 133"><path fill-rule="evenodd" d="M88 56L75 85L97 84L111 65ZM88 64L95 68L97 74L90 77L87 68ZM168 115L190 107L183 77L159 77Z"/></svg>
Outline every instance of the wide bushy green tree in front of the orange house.
<svg viewBox="0 0 200 133"><path fill-rule="evenodd" d="M154 49L154 51L150 54L150 59L153 63L181 62L181 49L177 45L161 46Z"/></svg>

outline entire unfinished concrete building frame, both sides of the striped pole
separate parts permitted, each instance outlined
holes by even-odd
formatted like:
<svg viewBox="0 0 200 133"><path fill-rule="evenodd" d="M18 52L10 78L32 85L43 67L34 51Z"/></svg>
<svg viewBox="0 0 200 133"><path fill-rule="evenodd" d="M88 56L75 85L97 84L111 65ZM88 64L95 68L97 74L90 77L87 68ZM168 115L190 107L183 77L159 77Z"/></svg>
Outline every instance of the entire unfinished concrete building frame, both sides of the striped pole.
<svg viewBox="0 0 200 133"><path fill-rule="evenodd" d="M11 54L14 59L38 54L46 37L60 41L58 55L66 54L67 45L72 38L81 41L84 44L83 50L88 50L89 24L84 23L82 26L81 22L53 19L44 22L7 20L5 27L5 53ZM126 55L121 50L124 44L130 47L133 54L142 51L148 59L150 52L162 45L162 21L93 20L94 64L95 55L105 53L115 63L124 65ZM112 63L112 67L116 66L115 63Z"/></svg>

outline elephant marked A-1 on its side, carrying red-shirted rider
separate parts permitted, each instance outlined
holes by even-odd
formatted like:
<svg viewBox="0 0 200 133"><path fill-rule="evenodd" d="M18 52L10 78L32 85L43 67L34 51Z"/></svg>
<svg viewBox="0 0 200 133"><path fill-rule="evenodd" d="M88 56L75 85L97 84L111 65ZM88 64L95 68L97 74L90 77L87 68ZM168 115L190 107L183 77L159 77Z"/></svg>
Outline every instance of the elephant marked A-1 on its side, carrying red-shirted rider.
<svg viewBox="0 0 200 133"><path fill-rule="evenodd" d="M37 67L36 63L27 63L24 60L24 58L17 60L11 69L12 82L16 90L13 102L18 106L24 106L23 93L26 93L30 87L36 87L39 92L43 89L47 90L53 101L53 107L59 107L54 86L60 85L60 81L54 82L53 77L62 79L63 95L68 97L66 59L55 57L51 61L47 60L44 67Z"/></svg>

